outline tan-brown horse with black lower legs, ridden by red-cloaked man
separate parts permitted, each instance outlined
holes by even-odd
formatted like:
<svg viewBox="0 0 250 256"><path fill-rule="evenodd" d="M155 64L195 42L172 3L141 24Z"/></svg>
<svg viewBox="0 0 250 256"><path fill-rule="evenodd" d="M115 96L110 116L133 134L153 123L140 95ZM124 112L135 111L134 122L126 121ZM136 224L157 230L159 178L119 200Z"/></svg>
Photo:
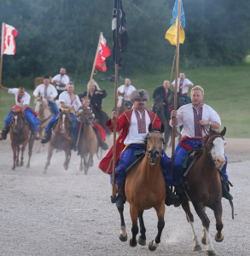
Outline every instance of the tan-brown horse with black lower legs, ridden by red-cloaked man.
<svg viewBox="0 0 250 256"><path fill-rule="evenodd" d="M131 247L137 246L137 218L140 222L140 233L138 242L140 245L146 245L146 229L144 226L142 214L144 210L154 207L158 217L158 234L154 241L150 241L148 249L154 251L160 243L161 232L165 226L165 198L166 184L160 169L160 157L163 148L164 125L161 125L158 131L155 131L152 124L148 126L148 137L146 138L146 153L141 162L137 162L131 167L125 179L126 201L130 203L130 213L132 221ZM127 240L125 230L125 221L123 216L124 207L119 208L121 220L120 241Z"/></svg>

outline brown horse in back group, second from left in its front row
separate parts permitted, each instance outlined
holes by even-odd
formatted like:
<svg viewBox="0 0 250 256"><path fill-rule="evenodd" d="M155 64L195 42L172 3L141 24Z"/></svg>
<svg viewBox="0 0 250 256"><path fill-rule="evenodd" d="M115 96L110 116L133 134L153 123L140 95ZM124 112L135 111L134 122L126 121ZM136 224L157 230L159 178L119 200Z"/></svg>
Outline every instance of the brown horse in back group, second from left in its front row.
<svg viewBox="0 0 250 256"><path fill-rule="evenodd" d="M63 163L64 170L67 171L71 158L71 148L73 143L73 126L72 119L69 116L70 110L61 110L58 114L58 122L52 130L49 141L48 156L44 167L44 174L47 173L53 150L63 150L65 152L65 161Z"/></svg>

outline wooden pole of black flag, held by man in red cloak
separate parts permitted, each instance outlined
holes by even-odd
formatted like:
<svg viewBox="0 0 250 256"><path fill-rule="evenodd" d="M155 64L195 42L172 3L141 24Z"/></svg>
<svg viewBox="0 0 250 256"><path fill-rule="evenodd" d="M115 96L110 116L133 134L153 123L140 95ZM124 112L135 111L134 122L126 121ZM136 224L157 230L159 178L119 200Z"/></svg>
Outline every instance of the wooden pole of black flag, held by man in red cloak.
<svg viewBox="0 0 250 256"><path fill-rule="evenodd" d="M115 38L116 38L116 45L115 47L115 73L114 73L114 106L113 111L117 111L117 84L118 84L118 64L119 64L119 26L120 26L120 0L117 0L117 18L116 18L116 31L115 31ZM115 197L115 164L116 164L116 119L113 119L113 181L112 181L112 199Z"/></svg>

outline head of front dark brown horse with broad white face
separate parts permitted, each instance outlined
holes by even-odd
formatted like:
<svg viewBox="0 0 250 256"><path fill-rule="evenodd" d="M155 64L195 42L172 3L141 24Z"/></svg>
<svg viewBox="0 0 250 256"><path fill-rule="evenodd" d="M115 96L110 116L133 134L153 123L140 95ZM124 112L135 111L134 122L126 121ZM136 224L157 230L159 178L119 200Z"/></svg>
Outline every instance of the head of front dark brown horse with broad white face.
<svg viewBox="0 0 250 256"><path fill-rule="evenodd" d="M226 127L220 133L212 130L210 127L209 134L206 136L204 143L207 154L210 155L214 164L218 170L221 170L225 164L224 152L226 142L224 135L226 133Z"/></svg>

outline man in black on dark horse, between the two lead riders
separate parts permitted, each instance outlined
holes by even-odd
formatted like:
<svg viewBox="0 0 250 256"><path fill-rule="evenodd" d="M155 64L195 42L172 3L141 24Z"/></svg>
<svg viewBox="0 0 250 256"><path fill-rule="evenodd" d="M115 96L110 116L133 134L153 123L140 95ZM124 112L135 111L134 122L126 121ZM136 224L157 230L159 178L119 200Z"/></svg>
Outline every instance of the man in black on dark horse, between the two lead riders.
<svg viewBox="0 0 250 256"><path fill-rule="evenodd" d="M170 115L171 115L171 103L172 103L172 99L173 99L173 95L174 92L172 90L169 89L170 87L170 82L168 80L165 80L163 82L163 86L157 87L154 90L153 93L153 98L155 98L155 96L161 96L163 99L164 104L164 113L166 116L167 120L170 120Z"/></svg>

